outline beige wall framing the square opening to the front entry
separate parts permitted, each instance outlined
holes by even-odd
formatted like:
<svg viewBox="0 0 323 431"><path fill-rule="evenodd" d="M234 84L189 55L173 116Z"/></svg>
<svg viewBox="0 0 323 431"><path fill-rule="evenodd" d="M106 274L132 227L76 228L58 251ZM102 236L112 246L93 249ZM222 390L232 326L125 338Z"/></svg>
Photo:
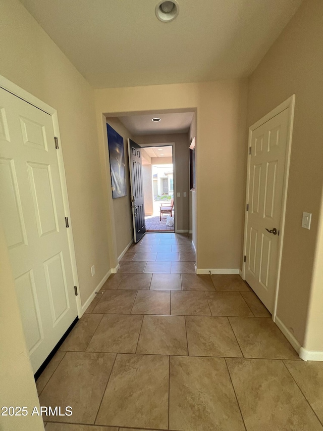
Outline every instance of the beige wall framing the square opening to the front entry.
<svg viewBox="0 0 323 431"><path fill-rule="evenodd" d="M95 100L99 130L102 113L197 109L197 266L239 268L247 81L106 88Z"/></svg>

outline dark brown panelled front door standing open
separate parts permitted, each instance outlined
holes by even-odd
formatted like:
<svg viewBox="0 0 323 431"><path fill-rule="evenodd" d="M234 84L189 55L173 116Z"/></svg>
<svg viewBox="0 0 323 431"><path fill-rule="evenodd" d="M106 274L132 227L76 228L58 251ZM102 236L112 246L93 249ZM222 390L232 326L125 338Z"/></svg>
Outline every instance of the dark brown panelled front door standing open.
<svg viewBox="0 0 323 431"><path fill-rule="evenodd" d="M146 233L145 208L143 202L141 147L133 140L128 139L128 151L134 240L135 243L137 243Z"/></svg>

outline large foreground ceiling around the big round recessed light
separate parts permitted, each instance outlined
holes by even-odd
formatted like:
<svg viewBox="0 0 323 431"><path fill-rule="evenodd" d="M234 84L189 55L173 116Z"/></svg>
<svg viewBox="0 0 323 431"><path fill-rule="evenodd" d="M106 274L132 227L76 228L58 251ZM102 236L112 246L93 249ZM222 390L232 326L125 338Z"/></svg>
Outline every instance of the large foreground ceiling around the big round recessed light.
<svg viewBox="0 0 323 431"><path fill-rule="evenodd" d="M21 0L95 88L248 76L302 0Z"/></svg>

